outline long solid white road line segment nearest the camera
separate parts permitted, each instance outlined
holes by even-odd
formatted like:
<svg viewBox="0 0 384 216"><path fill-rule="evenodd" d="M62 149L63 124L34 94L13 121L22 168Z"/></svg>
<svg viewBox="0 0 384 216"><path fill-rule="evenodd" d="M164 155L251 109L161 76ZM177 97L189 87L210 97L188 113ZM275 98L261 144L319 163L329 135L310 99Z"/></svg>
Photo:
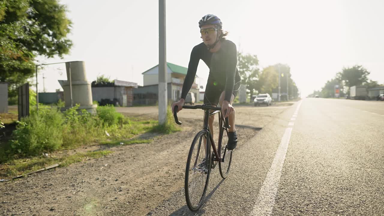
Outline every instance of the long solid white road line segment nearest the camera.
<svg viewBox="0 0 384 216"><path fill-rule="evenodd" d="M251 216L269 216L272 213L291 133L292 128L285 129L271 168L266 174L262 188L260 188L256 204L253 206L253 211L250 214Z"/></svg>

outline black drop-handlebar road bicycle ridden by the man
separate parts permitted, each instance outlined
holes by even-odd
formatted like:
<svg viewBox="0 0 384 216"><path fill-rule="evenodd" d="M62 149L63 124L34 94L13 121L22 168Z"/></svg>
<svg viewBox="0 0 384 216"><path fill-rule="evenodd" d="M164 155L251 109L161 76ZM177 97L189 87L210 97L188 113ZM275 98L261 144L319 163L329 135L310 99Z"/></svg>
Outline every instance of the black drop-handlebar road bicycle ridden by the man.
<svg viewBox="0 0 384 216"><path fill-rule="evenodd" d="M181 122L177 118L177 106L174 107L174 118L178 125ZM204 125L192 141L185 166L185 201L191 211L197 211L204 202L207 192L211 170L218 163L220 175L227 178L232 162L232 150L227 149L228 142L228 118L223 117L221 107L210 105L183 106L183 109L204 110ZM210 111L213 111L212 113ZM216 148L214 138L208 127L210 116L219 116L218 146ZM213 152L211 153L211 147Z"/></svg>

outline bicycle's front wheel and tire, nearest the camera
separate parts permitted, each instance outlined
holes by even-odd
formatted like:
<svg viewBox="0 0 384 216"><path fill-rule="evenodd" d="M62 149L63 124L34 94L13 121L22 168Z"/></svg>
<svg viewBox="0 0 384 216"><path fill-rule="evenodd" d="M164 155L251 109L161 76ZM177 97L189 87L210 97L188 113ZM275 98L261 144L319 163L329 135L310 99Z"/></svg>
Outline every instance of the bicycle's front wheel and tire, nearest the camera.
<svg viewBox="0 0 384 216"><path fill-rule="evenodd" d="M195 138L192 141L192 144L190 146L190 150L189 150L189 154L188 154L188 158L187 158L187 164L185 166L185 181L184 181L185 201L187 203L188 208L191 211L199 210L199 208L204 203L204 197L205 197L205 193L207 192L209 176L211 173L211 166L210 166L211 165L210 164L211 163L211 153L210 153L209 141L207 141L208 148L199 148L199 147L205 147L203 138L204 138L204 136L206 136L206 133L207 133L206 131L202 130L196 134L196 136L195 136ZM194 154L195 148L198 150L199 154L197 154L197 153ZM204 151L200 152L200 150L203 150L203 149L204 149ZM205 169L204 169L204 166L202 169L198 168L198 166L201 163L203 163L203 162L200 162L200 158L204 157L204 156L201 156L200 153L205 155L205 160L203 160L203 162L204 161L206 162L204 165ZM193 168L191 168L191 164L192 164ZM209 165L209 166L207 166L207 165ZM204 180L204 178L205 178L204 188L200 188L199 191L197 191L197 189L192 190L192 187L190 187L190 177L191 177L190 171L196 171L196 172L192 173L192 176L195 173L197 173L197 174L201 174L201 176L202 176L199 179ZM205 173L205 171L207 173ZM205 177L204 177L204 174L205 174ZM196 181L196 183L197 183L197 181ZM202 183L203 183L203 181L202 181ZM202 191L201 191L201 189L202 189Z"/></svg>

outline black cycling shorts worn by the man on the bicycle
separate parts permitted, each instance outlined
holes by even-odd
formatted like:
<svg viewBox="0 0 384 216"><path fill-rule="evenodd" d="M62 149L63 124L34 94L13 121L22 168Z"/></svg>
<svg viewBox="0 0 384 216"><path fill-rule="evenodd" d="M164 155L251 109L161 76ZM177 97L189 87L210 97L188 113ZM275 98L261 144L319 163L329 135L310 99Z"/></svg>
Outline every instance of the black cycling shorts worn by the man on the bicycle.
<svg viewBox="0 0 384 216"><path fill-rule="evenodd" d="M238 93L238 90L240 89L240 84L241 84L241 81L238 81L233 86L232 94L235 96L235 98ZM208 78L207 86L205 87L205 93L204 93L204 104L218 106L220 95L224 90L225 90L225 86L218 85L216 81L213 81Z"/></svg>

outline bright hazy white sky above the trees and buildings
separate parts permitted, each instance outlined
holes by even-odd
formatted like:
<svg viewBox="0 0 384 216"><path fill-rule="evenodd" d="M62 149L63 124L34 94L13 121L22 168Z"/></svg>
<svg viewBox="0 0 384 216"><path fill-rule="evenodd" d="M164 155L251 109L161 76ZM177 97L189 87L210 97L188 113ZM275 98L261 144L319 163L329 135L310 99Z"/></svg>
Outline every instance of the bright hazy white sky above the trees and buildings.
<svg viewBox="0 0 384 216"><path fill-rule="evenodd" d="M142 85L141 73L159 62L157 0L61 0L73 21L74 43L64 59L85 61L89 81L98 75ZM260 69L275 63L291 67L302 96L319 90L343 66L362 64L369 78L384 84L383 0L167 0L167 61L188 66L192 48L202 42L198 22L212 13L223 22L238 50L258 56ZM63 75L58 77L57 68ZM46 66L47 91L60 88L65 66ZM206 84L200 61L197 75ZM39 75L39 91L43 90ZM40 88L41 87L41 88Z"/></svg>

